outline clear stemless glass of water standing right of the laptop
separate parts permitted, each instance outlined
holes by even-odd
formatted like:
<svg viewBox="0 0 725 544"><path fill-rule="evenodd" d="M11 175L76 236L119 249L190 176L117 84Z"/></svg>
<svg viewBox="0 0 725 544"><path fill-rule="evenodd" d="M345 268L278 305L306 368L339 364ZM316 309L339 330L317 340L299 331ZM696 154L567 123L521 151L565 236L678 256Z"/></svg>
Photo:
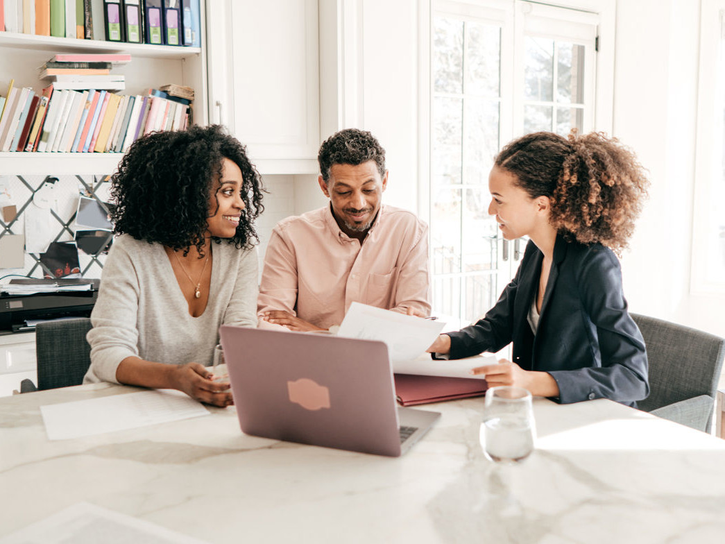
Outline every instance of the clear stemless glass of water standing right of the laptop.
<svg viewBox="0 0 725 544"><path fill-rule="evenodd" d="M534 451L534 409L523 387L492 387L486 391L481 446L497 463L520 463Z"/></svg>

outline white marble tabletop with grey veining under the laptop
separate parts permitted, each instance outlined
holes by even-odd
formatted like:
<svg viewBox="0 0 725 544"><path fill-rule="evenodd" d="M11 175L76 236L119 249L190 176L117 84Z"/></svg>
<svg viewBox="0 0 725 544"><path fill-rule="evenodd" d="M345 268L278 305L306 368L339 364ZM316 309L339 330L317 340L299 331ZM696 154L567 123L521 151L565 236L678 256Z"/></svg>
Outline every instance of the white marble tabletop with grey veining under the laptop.
<svg viewBox="0 0 725 544"><path fill-rule="evenodd" d="M49 442L39 405L136 391L94 384L0 399L0 537L86 501L210 543L720 543L725 440L608 400L535 400L537 451L493 466L481 399L402 458L241 434L233 408Z"/></svg>

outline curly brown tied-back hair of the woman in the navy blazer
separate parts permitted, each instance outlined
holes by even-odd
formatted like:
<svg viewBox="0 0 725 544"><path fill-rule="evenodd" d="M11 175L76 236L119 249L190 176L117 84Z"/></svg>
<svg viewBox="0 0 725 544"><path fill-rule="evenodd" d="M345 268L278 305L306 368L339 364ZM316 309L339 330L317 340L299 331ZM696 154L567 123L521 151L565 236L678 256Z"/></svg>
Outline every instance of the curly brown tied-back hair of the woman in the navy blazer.
<svg viewBox="0 0 725 544"><path fill-rule="evenodd" d="M630 149L592 132L568 139L526 134L506 145L495 164L531 198L549 197L550 221L568 239L600 243L620 254L634 232L650 181Z"/></svg>

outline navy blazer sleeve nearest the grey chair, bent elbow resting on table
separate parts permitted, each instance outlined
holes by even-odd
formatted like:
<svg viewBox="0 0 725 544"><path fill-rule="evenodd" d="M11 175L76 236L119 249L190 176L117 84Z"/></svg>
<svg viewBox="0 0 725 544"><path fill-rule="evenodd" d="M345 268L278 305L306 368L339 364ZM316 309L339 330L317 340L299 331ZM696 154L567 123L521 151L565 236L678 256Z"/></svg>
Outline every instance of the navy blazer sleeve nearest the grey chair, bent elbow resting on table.
<svg viewBox="0 0 725 544"><path fill-rule="evenodd" d="M560 403L608 398L631 403L650 393L647 351L642 333L629 316L621 269L612 252L589 251L577 281L584 311L592 321L601 366L549 371L559 386Z"/></svg>

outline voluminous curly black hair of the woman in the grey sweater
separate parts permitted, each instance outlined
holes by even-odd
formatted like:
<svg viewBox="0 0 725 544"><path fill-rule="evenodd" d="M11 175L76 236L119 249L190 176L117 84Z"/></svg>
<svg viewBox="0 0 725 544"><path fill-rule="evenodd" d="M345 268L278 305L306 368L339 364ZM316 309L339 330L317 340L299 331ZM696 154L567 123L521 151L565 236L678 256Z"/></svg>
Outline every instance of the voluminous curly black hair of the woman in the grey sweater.
<svg viewBox="0 0 725 544"><path fill-rule="evenodd" d="M154 132L133 142L111 176L114 232L185 254L196 246L203 255L207 218L216 213L209 197L219 189L225 158L241 170L245 206L235 236L226 240L239 249L256 245L254 220L264 210L265 190L244 145L220 125Z"/></svg>

